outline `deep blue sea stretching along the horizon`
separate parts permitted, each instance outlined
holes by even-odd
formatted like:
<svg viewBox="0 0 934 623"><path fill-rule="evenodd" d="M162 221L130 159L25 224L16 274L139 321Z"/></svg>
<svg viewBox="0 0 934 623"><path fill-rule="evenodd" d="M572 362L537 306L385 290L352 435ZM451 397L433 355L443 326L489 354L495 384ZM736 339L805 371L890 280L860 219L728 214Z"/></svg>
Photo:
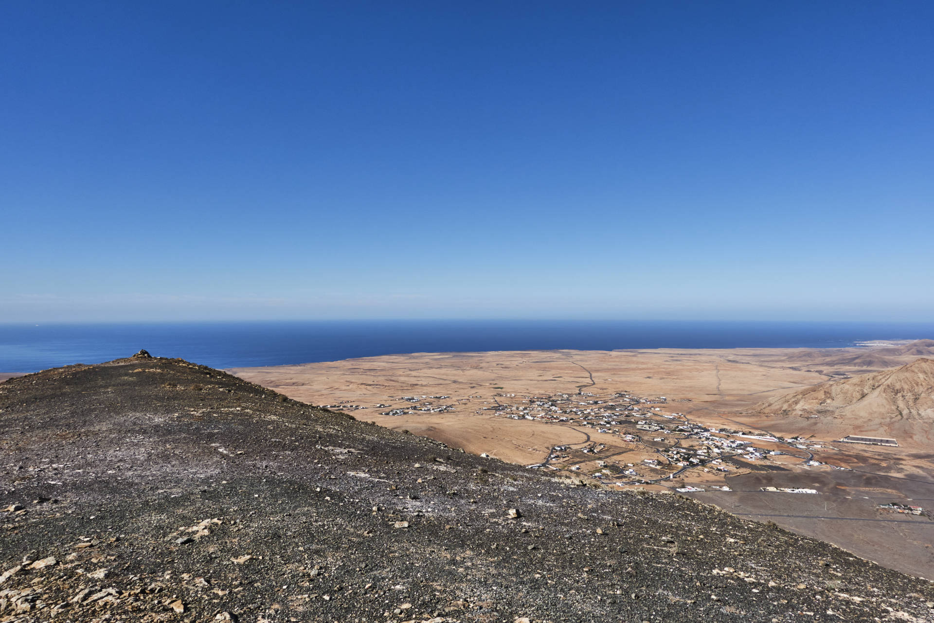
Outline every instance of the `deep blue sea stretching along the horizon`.
<svg viewBox="0 0 934 623"><path fill-rule="evenodd" d="M140 348L216 368L410 352L575 348L850 347L934 338L934 321L347 320L0 324L0 372L128 357Z"/></svg>

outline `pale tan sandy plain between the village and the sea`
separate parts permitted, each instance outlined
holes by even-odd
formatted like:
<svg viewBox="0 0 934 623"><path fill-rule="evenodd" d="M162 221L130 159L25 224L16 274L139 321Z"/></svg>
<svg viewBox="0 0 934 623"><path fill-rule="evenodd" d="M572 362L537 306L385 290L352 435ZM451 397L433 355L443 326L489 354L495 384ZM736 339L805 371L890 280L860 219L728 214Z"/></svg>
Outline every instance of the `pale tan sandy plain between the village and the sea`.
<svg viewBox="0 0 934 623"><path fill-rule="evenodd" d="M539 422L515 422L482 412L500 393L594 393L628 389L645 396L669 396L691 403L678 408L692 418L715 415L736 405L757 404L784 389L814 385L828 376L740 361L733 351L521 351L416 353L366 359L305 363L230 372L290 398L311 404L347 404L355 417L395 430L428 434L454 446L511 462L543 460L550 446L574 443L581 433ZM757 351L743 353L755 361ZM769 352L772 356L774 353ZM583 366L583 367L582 367ZM589 374L595 385L591 386ZM404 406L405 395L450 395L445 414L381 416ZM334 408L338 408L335 406ZM481 411L477 413L477 411ZM479 417L479 421L478 421Z"/></svg>

